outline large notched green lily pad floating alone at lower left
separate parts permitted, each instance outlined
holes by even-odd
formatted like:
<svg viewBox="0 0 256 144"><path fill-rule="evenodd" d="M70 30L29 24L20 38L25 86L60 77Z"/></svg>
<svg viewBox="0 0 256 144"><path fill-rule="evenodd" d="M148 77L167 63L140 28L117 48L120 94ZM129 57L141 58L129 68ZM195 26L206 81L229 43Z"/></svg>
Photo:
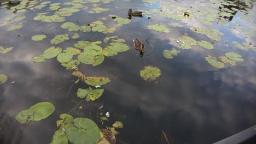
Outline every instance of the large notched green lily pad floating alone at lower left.
<svg viewBox="0 0 256 144"><path fill-rule="evenodd" d="M30 107L30 109L20 111L16 116L16 121L27 123L31 121L40 121L51 115L55 111L53 104L42 102Z"/></svg>

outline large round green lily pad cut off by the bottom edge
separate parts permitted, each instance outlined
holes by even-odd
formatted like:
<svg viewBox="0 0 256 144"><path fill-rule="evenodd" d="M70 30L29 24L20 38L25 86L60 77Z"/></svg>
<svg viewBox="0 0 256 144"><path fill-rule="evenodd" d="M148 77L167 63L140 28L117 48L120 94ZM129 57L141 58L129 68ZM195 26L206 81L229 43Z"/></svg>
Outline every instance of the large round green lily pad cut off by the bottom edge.
<svg viewBox="0 0 256 144"><path fill-rule="evenodd" d="M74 125L66 128L66 136L74 144L97 143L100 140L100 129L89 118L75 118Z"/></svg>

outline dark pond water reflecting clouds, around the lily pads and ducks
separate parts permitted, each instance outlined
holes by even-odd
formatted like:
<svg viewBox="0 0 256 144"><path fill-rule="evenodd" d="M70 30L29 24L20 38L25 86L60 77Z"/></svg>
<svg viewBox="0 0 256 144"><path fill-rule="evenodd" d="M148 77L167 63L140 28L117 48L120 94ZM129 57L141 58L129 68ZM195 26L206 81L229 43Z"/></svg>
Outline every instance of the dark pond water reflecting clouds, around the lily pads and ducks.
<svg viewBox="0 0 256 144"><path fill-rule="evenodd" d="M42 1L43 2L43 1ZM55 1L57 2L57 1ZM59 1L63 2L63 1ZM207 7L208 1L170 1L173 4L188 7L190 4L202 4ZM131 22L121 27L116 27L114 33L126 40L132 47L133 38L139 38L147 44L144 57L136 50L130 49L120 52L117 56L105 57L104 62L92 67L81 63L78 68L85 75L106 76L111 82L102 86L103 95L90 102L83 101L83 109L76 107L71 111L74 117L87 117L94 120L99 128L106 128L115 121L124 124L116 135L117 143L161 143L161 131L165 131L171 143L213 143L225 137L236 134L256 123L256 52L243 51L232 45L232 41L239 43L247 41L254 46L255 37L245 37L239 31L231 31L232 27L245 29L255 28L248 25L248 21L256 21L255 1L239 2L237 9L247 10L244 20L238 11L231 21L226 21L229 26L203 25L197 19L173 20L159 14L149 14L153 19L132 17ZM103 21L107 27L114 27L114 22L109 14L127 17L127 10L161 9L165 1L146 3L142 1L112 1L100 7L109 8L99 14L89 14L87 9L81 9L73 16L67 16L66 22L74 22L79 26L87 25L93 21ZM249 5L248 5L249 4ZM90 4L84 4L91 7ZM62 49L72 47L78 40L102 41L106 35L95 32L69 32L60 26L64 22L34 21L37 13L47 11L49 6L16 15L25 15L24 27L15 31L7 31L9 27L0 27L0 46L14 47L6 54L0 53L0 74L8 76L8 81L0 85L0 143L50 143L54 135L56 121L61 113L68 113L80 101L77 98L78 88L87 88L85 83L79 82L69 88L77 80L72 71L61 66L56 58L45 60L44 63L33 63L31 58L41 55L51 46L60 46ZM189 8L189 7L188 7ZM216 8L218 9L218 8ZM0 23L8 9L0 9ZM78 22L77 22L78 21ZM236 21L240 26L234 25ZM179 22L184 27L172 27L170 22ZM165 24L169 33L155 32L147 26L156 23ZM190 31L189 27L216 29L225 35L222 41L214 41ZM57 45L50 44L50 40L57 34L79 33L78 39L65 40ZM47 38L42 41L33 41L31 37L36 34L45 34ZM176 40L183 34L195 40L214 41L214 50L193 46L189 50L181 50L177 57L166 59L162 52L177 47ZM18 37L20 35L20 37ZM228 43L228 47L225 46ZM103 47L103 46L102 46ZM147 49L148 47L148 49ZM150 49L149 49L150 47ZM236 66L225 64L223 69L216 69L205 61L205 56L220 56L225 52L236 52L245 59ZM139 71L144 66L152 65L161 70L161 76L153 82L144 81ZM155 82L158 83L155 83ZM12 83L14 82L14 83ZM56 110L48 118L38 122L20 124L15 121L16 113L28 107L49 101ZM79 106L80 106L79 105ZM98 106L103 105L101 110ZM97 114L103 115L109 111L110 122L101 124Z"/></svg>

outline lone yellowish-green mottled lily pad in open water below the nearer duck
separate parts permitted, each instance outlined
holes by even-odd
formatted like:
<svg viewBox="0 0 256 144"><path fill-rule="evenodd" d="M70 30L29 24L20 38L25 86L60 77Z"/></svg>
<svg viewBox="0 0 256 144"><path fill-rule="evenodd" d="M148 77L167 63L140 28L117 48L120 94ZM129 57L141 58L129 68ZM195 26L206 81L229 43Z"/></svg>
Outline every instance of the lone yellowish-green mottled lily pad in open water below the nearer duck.
<svg viewBox="0 0 256 144"><path fill-rule="evenodd" d="M145 81L153 81L161 75L161 70L157 67L146 66L141 70L141 77Z"/></svg>

